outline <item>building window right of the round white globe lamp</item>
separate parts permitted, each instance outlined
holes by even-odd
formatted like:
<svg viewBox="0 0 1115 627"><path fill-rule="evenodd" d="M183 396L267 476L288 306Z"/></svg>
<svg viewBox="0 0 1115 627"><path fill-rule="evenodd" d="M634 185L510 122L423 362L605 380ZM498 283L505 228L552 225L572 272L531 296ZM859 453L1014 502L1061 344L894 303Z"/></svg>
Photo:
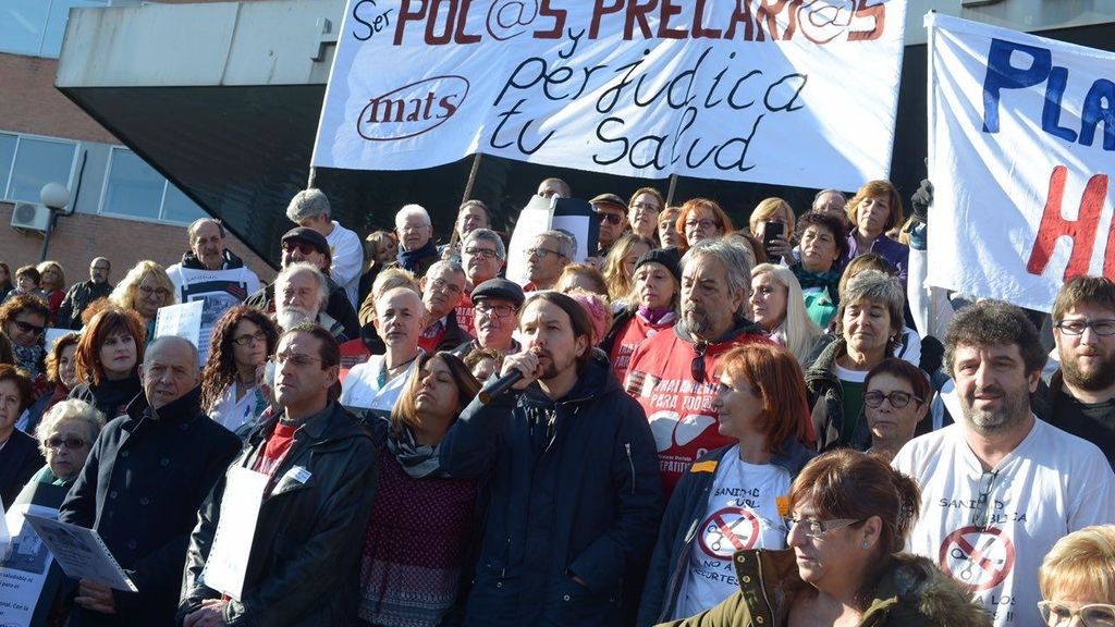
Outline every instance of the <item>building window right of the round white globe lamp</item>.
<svg viewBox="0 0 1115 627"><path fill-rule="evenodd" d="M127 148L114 147L100 213L188 224L207 214Z"/></svg>

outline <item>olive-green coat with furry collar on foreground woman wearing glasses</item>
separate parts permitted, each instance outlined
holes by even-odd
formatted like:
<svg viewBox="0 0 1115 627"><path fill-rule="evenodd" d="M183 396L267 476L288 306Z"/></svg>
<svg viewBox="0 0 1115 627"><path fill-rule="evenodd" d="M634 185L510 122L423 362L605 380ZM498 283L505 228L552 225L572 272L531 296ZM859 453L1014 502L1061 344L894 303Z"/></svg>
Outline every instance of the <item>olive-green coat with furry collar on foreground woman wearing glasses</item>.
<svg viewBox="0 0 1115 627"><path fill-rule="evenodd" d="M794 596L808 588L797 575L793 550L757 549L735 556L739 591L712 609L671 627L778 627ZM971 594L932 561L891 556L859 627L990 627L991 618Z"/></svg>

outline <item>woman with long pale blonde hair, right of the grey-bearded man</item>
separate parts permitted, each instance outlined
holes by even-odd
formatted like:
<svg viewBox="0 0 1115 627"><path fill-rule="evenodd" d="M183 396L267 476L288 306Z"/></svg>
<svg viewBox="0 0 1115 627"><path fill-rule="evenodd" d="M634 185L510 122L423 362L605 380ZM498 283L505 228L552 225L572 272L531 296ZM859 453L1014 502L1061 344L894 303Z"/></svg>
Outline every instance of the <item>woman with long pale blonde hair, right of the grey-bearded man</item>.
<svg viewBox="0 0 1115 627"><path fill-rule="evenodd" d="M797 278L785 266L759 263L752 269L752 318L775 344L805 364L824 330L805 310Z"/></svg>

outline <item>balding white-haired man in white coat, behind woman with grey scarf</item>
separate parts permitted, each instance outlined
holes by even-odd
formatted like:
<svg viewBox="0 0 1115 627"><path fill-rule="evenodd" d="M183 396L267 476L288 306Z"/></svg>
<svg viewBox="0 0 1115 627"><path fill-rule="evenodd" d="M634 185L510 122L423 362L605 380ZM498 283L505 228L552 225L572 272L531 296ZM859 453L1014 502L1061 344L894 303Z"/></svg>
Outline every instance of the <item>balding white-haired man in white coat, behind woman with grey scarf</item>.
<svg viewBox="0 0 1115 627"><path fill-rule="evenodd" d="M407 377L418 364L418 337L426 319L421 296L410 288L392 288L376 299L376 331L387 353L357 364L345 377L341 405L390 411Z"/></svg>

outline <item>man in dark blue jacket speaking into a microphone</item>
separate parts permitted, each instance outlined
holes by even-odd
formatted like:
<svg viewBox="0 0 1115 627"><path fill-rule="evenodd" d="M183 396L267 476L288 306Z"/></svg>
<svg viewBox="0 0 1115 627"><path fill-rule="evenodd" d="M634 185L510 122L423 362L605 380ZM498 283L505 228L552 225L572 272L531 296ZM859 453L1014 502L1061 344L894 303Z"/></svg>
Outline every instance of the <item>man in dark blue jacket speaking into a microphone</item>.
<svg viewBox="0 0 1115 627"><path fill-rule="evenodd" d="M661 513L655 438L575 300L532 295L520 332L526 350L502 373L523 378L488 405L473 399L442 441L449 474L491 473L465 624L617 625L623 578Z"/></svg>

